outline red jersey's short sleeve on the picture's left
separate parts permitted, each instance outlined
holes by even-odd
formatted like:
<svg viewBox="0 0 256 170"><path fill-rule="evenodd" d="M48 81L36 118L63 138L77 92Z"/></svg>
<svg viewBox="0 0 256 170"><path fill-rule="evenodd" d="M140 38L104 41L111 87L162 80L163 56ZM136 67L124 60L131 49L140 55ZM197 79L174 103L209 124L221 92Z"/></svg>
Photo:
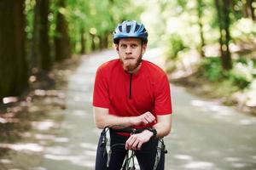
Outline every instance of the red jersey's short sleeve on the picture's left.
<svg viewBox="0 0 256 170"><path fill-rule="evenodd" d="M109 108L108 80L103 77L101 67L96 71L93 90L93 103L96 107Z"/></svg>

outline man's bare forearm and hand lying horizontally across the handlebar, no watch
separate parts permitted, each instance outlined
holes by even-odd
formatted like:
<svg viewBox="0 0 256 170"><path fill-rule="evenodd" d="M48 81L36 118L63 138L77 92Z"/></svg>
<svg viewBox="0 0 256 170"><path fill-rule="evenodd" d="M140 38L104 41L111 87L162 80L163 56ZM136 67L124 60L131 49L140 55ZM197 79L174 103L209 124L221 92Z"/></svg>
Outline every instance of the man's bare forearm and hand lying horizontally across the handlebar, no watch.
<svg viewBox="0 0 256 170"><path fill-rule="evenodd" d="M114 125L130 127L155 121L155 117L150 112L146 112L141 116L113 116L108 114L108 109L94 106L93 113L94 121L98 128L112 127Z"/></svg>

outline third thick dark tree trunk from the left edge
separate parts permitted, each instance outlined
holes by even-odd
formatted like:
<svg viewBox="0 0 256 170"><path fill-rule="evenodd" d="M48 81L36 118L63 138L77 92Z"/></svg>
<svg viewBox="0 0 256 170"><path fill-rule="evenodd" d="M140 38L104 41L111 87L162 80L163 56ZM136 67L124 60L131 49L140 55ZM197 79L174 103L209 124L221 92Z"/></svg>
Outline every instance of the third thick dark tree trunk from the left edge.
<svg viewBox="0 0 256 170"><path fill-rule="evenodd" d="M65 8L65 1L59 0L58 7ZM61 61L70 58L71 48L68 37L67 20L60 11L57 13L55 34L55 60Z"/></svg>

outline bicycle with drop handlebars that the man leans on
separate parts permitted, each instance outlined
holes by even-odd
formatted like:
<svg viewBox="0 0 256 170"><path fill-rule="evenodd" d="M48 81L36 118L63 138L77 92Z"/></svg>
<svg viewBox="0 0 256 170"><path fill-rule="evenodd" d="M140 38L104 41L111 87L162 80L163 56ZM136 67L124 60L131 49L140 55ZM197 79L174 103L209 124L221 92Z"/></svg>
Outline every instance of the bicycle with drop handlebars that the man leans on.
<svg viewBox="0 0 256 170"><path fill-rule="evenodd" d="M121 127L121 128L118 128ZM143 130L145 130L147 128L141 128L141 129L137 129L137 128L131 128L131 127L123 127L123 126L119 126L119 125L115 125L112 127L104 127L104 133L105 135L103 136L102 139L102 144L105 144L105 148L106 148L106 152L107 152L107 156L108 156L108 160L107 160L107 167L109 167L109 162L111 159L111 154L112 154L112 149L113 147L117 146L117 145L125 145L125 144L110 144L110 130L112 130L115 133L131 133L131 134L135 134L135 133L142 133ZM154 161L154 169L156 169L159 161L160 161L160 155L161 155L161 151L164 151L164 153L167 153L166 150L166 145L164 144L163 139L158 139L158 146L157 146L157 153L155 156L155 161ZM120 170L135 170L135 160L134 160L134 156L135 156L135 151L134 150L128 150L126 155L125 155L125 160L123 161L122 167Z"/></svg>

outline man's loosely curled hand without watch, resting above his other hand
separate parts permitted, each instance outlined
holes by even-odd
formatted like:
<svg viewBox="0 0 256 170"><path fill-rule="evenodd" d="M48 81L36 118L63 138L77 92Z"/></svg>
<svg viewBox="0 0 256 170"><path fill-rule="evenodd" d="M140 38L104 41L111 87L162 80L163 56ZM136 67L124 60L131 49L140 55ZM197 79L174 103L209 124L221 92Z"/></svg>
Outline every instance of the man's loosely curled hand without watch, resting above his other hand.
<svg viewBox="0 0 256 170"><path fill-rule="evenodd" d="M149 111L141 116L131 117L131 122L133 125L147 125L148 123L155 122L155 117Z"/></svg>

